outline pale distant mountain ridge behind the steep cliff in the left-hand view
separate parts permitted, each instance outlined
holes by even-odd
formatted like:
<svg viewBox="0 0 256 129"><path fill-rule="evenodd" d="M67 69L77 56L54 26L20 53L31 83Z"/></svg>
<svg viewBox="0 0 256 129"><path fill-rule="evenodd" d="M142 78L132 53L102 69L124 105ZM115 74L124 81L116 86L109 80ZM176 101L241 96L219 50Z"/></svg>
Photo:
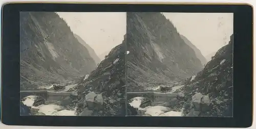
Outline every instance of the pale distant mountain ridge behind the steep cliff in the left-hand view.
<svg viewBox="0 0 256 129"><path fill-rule="evenodd" d="M100 63L100 59L99 57L96 55L94 49L92 47L90 47L84 40L82 40L82 38L80 36L78 36L77 34L74 34L74 36L77 38L77 40L84 45L87 50L89 51L90 56L94 59L95 63L98 64Z"/></svg>

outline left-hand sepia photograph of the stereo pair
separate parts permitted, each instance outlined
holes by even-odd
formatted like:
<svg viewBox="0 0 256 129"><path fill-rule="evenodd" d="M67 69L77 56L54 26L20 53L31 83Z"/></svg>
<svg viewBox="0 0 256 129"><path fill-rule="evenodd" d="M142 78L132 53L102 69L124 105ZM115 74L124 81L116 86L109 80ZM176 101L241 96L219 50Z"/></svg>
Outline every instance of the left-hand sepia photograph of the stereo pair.
<svg viewBox="0 0 256 129"><path fill-rule="evenodd" d="M125 12L20 12L20 115L125 116Z"/></svg>

